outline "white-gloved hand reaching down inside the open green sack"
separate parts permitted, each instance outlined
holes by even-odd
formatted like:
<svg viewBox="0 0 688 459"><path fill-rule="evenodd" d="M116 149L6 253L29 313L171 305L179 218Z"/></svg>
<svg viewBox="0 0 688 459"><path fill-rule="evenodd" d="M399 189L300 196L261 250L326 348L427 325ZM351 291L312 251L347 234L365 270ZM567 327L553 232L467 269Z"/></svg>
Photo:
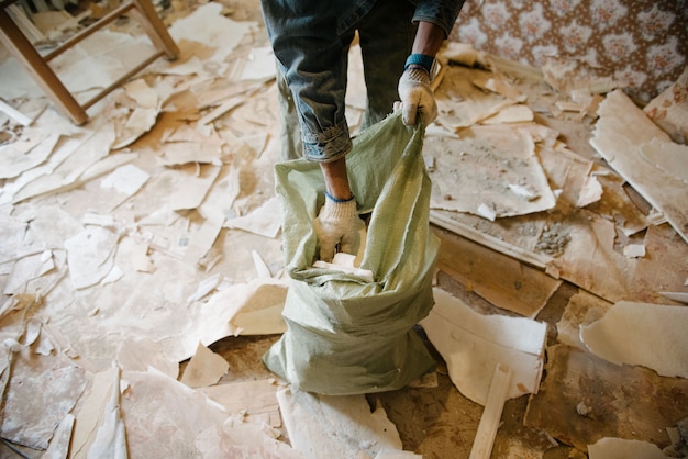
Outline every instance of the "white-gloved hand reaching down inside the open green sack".
<svg viewBox="0 0 688 459"><path fill-rule="evenodd" d="M337 244L340 251L356 255L359 243L358 231L363 224L353 197L348 201L335 201L325 193L325 205L314 221L315 235L320 243L320 259L332 261Z"/></svg>

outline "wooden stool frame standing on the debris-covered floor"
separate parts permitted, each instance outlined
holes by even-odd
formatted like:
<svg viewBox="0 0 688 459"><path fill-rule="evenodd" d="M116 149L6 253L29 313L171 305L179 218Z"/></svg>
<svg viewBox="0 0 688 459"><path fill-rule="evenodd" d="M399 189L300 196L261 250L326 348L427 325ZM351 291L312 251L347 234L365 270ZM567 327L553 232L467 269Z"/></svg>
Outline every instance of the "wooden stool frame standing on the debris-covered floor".
<svg viewBox="0 0 688 459"><path fill-rule="evenodd" d="M31 44L29 38L26 38L21 29L14 23L12 18L5 11L7 8L15 1L16 0L0 0L0 41L2 41L10 53L12 53L26 71L29 71L55 107L57 107L57 109L59 109L65 115L69 116L76 124L84 124L88 120L86 110L89 107L121 86L129 78L144 69L152 61L163 55L166 55L169 59L175 59L179 54L177 45L169 36L165 24L163 24L163 21L158 18L153 4L151 4L151 1L125 0L124 3L122 3L122 5L118 9L74 35L71 38L55 48L52 53L41 56L41 54L38 54L36 48ZM131 11L131 14L141 22L146 35L148 35L157 52L87 102L77 102L74 96L71 96L57 75L49 67L48 63L51 59L64 53L69 47L79 43L99 29L108 25L127 11Z"/></svg>

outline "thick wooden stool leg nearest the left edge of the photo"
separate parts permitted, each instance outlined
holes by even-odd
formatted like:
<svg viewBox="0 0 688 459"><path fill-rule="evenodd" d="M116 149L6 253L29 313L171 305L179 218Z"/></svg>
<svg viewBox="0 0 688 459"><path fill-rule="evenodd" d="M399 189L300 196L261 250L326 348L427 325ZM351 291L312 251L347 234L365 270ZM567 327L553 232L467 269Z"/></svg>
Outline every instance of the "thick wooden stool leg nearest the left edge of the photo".
<svg viewBox="0 0 688 459"><path fill-rule="evenodd" d="M86 111L43 60L36 48L24 36L4 8L0 8L0 41L33 77L43 92L65 115L76 124L88 120Z"/></svg>

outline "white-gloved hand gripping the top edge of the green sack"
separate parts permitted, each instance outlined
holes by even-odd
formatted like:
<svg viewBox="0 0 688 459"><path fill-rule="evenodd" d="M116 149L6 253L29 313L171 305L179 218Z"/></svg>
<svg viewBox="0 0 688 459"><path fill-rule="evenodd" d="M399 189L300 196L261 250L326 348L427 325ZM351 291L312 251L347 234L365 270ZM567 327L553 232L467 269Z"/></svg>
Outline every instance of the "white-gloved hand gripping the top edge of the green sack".
<svg viewBox="0 0 688 459"><path fill-rule="evenodd" d="M430 75L421 68L407 68L399 79L399 97L401 98L401 117L403 124L415 124L417 113L421 113L423 127L437 117L435 96L430 88Z"/></svg>

